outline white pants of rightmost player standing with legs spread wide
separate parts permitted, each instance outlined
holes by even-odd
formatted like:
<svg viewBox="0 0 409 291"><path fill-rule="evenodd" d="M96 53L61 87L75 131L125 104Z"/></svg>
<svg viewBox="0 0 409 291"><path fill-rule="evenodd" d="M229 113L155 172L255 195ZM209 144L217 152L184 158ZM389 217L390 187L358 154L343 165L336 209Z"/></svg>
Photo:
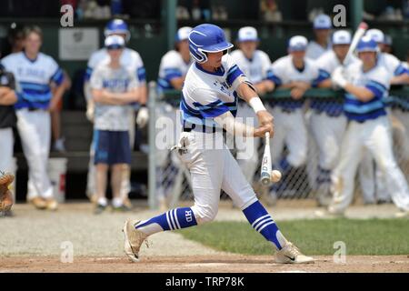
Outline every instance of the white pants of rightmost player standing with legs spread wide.
<svg viewBox="0 0 409 291"><path fill-rule="evenodd" d="M340 163L332 176L334 198L331 212L344 212L354 195L354 176L366 148L376 165L384 173L386 187L395 206L409 210L409 188L406 179L394 160L391 126L387 116L364 123L351 121L344 135Z"/></svg>

